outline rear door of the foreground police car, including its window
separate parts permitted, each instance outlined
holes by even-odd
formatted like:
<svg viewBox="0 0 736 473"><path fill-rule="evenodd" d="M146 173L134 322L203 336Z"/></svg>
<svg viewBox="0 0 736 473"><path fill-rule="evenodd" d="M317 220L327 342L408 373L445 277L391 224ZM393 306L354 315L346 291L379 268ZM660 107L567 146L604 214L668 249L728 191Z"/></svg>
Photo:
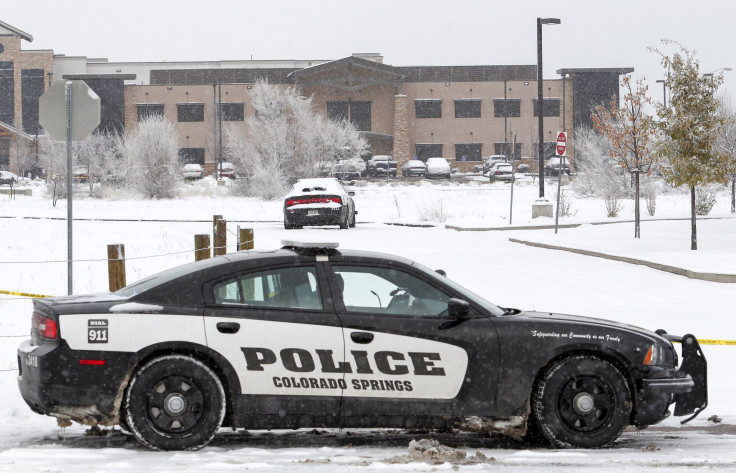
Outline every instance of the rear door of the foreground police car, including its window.
<svg viewBox="0 0 736 473"><path fill-rule="evenodd" d="M322 273L314 263L271 266L205 286L208 345L237 372L238 415L272 427L292 427L294 415L336 418L343 337Z"/></svg>

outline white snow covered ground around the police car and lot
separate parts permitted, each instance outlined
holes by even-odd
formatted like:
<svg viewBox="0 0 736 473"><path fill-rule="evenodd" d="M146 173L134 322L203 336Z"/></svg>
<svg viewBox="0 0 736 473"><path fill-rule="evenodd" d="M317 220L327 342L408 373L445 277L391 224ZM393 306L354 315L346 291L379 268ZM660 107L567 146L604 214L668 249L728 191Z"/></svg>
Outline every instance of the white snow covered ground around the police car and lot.
<svg viewBox="0 0 736 473"><path fill-rule="evenodd" d="M556 181L548 181L552 197ZM314 227L286 231L281 201L235 198L211 179L182 187L181 198L136 200L118 191L104 200L74 203L74 292L107 290L106 245L125 244L128 282L193 261L194 234L210 233L212 216L228 220L228 245L235 226L253 228L256 249L276 248L284 238L338 241L344 248L398 253L448 276L501 306L590 315L700 339L736 340L733 301L736 284L682 276L562 251L509 242L532 240L657 261L697 271L736 274L736 219L729 197L719 196L698 222L697 252L690 251L688 195L670 192L657 202L657 219L642 223L633 238L631 202L616 219L602 201L577 198L575 215L554 230L457 231L509 226L509 184L419 182L407 185L359 183L355 186L358 225L354 229ZM0 195L0 290L66 294L66 202L42 197L11 200ZM514 189L513 226L554 224L532 219L537 183ZM646 219L643 210L642 214ZM592 222L621 221L611 225ZM387 223L430 224L429 228ZM514 471L608 471L672 468L736 471L736 406L733 380L736 346L705 345L709 363L708 409L686 426L668 419L642 432L626 432L611 449L552 450L504 439L483 440L437 435L444 445L460 446L465 460L433 464L409 457L411 439L426 433L395 431L224 431L198 452L158 453L139 447L118 431L87 437L86 427L67 429L30 411L16 384L16 348L30 329L27 298L0 294L0 471L461 471L500 467ZM709 421L718 416L722 422ZM481 452L476 456L476 450ZM485 458L483 458L483 456Z"/></svg>

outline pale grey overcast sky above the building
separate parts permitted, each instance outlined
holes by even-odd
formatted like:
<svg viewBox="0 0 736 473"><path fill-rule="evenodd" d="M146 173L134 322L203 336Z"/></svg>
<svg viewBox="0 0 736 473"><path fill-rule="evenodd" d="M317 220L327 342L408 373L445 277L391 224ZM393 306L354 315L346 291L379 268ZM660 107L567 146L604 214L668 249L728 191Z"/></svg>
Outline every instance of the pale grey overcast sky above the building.
<svg viewBox="0 0 736 473"><path fill-rule="evenodd" d="M381 53L386 64L633 67L661 100L663 38L697 51L701 71L736 69L733 0L7 0L0 20L33 36L23 49L110 61L339 59ZM667 53L673 48L664 47ZM736 91L736 70L724 89Z"/></svg>

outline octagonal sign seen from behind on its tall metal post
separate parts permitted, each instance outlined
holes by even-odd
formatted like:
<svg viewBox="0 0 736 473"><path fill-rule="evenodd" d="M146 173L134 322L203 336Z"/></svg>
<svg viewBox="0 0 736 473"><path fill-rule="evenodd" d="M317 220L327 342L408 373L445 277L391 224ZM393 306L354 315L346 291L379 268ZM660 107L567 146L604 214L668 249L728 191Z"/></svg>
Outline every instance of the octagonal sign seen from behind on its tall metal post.
<svg viewBox="0 0 736 473"><path fill-rule="evenodd" d="M100 97L81 80L56 81L38 99L38 121L57 141L66 141L67 290L72 294L72 141L100 124Z"/></svg>

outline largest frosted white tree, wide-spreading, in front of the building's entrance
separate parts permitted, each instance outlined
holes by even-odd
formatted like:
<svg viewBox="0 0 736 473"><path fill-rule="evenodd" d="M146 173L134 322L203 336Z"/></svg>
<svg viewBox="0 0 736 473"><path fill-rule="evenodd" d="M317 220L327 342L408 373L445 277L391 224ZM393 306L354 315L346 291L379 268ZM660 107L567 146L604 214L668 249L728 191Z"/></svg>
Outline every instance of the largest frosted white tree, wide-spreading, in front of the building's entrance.
<svg viewBox="0 0 736 473"><path fill-rule="evenodd" d="M227 129L224 151L245 177L248 194L276 198L297 179L317 176L321 162L360 157L367 149L352 125L327 120L294 87L258 81L251 101L255 116L244 130Z"/></svg>

